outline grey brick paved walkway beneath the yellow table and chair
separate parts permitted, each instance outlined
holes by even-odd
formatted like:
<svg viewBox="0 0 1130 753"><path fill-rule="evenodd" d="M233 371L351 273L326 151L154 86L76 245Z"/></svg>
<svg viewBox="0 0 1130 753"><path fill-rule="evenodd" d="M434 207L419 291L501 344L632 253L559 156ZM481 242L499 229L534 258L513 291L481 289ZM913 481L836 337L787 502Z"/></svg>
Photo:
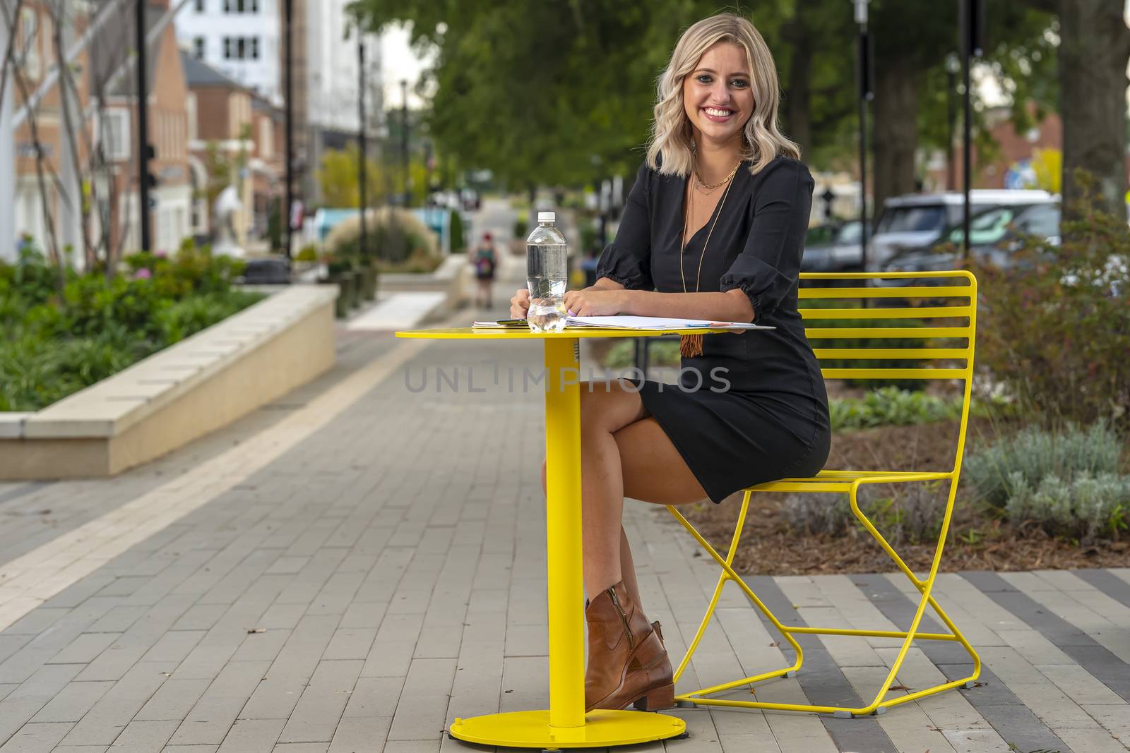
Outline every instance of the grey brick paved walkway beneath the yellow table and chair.
<svg viewBox="0 0 1130 753"><path fill-rule="evenodd" d="M0 752L447 753L484 750L443 736L455 715L545 706L541 395L523 367L540 367L537 343L342 330L330 374L167 458L0 484ZM662 509L631 504L627 527L678 657L715 571ZM798 623L904 625L912 610L901 576L753 586ZM678 710L688 739L633 750L1128 750L1130 570L938 588L981 650L979 688L863 719ZM857 702L890 646L810 638L805 671L757 697ZM959 676L950 648L914 650L899 682ZM733 589L680 690L785 654Z"/></svg>

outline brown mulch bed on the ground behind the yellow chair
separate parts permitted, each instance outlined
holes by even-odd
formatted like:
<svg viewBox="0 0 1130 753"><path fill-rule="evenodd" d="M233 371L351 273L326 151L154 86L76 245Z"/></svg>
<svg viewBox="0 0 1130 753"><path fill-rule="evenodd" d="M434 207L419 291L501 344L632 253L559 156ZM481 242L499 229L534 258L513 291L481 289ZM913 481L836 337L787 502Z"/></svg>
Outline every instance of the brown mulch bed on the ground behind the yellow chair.
<svg viewBox="0 0 1130 753"><path fill-rule="evenodd" d="M1011 434L1015 428L986 419L971 419L966 457L977 446L991 444L998 436ZM949 470L953 467L957 430L958 424L954 421L838 432L833 438L826 467ZM942 488L938 493L939 507L945 504L945 491ZM832 497L827 496L827 499ZM739 572L820 575L896 569L866 531L851 528L840 536L790 531L782 514L784 500L784 494L754 496L734 561ZM721 505L703 502L681 511L716 550L724 553L733 535L740 506L741 494L737 493ZM883 527L878 527L883 532ZM950 527L951 535L941 559L941 569L946 571L1130 566L1130 543L1127 541L1101 541L1080 546L1036 528L1015 529L971 502L962 487L958 488ZM973 535L971 532L974 532ZM895 550L912 569L924 571L930 568L933 546L904 543L895 545ZM703 557L706 557L705 552Z"/></svg>

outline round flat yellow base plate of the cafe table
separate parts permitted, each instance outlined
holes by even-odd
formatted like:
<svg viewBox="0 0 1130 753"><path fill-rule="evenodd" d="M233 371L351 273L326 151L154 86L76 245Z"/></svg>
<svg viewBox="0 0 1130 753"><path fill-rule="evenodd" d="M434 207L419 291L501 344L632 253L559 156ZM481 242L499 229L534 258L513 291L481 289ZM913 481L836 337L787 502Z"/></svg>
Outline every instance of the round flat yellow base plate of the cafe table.
<svg viewBox="0 0 1130 753"><path fill-rule="evenodd" d="M608 747L675 737L687 725L677 717L644 711L589 711L583 727L550 727L549 711L511 711L455 718L449 732L468 743L507 747Z"/></svg>

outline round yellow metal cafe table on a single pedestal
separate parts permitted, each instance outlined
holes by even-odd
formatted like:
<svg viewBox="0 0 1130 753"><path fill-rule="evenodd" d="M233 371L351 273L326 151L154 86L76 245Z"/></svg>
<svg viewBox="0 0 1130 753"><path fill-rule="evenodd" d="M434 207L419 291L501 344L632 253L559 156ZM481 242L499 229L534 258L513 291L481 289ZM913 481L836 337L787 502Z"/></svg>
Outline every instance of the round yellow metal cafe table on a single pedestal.
<svg viewBox="0 0 1130 753"><path fill-rule="evenodd" d="M681 735L683 719L644 711L584 712L584 587L581 569L581 338L645 338L727 332L566 327L562 332L415 330L398 338L542 340L546 368L546 561L549 602L549 709L489 713L451 723L458 739L511 747L608 747Z"/></svg>

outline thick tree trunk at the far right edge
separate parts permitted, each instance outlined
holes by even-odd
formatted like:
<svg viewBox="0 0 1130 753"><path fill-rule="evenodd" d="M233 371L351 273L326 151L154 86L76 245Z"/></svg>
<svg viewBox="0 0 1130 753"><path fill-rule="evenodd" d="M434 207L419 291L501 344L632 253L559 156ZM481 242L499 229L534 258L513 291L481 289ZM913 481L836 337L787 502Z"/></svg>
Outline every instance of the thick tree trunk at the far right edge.
<svg viewBox="0 0 1130 753"><path fill-rule="evenodd" d="M1127 58L1122 3L1060 0L1059 112L1063 119L1063 202L1081 195L1076 168L1096 180L1096 199L1125 214Z"/></svg>

